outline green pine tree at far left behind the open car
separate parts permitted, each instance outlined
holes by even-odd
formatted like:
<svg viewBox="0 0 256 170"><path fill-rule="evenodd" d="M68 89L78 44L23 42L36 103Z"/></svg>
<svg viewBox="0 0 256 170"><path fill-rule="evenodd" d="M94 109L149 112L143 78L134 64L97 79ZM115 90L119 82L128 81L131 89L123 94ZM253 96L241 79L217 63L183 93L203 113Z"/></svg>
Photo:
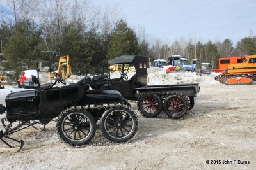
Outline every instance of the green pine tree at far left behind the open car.
<svg viewBox="0 0 256 170"><path fill-rule="evenodd" d="M17 25L14 25L12 36L3 46L3 56L6 59L3 67L8 71L8 78L11 81L17 81L22 71L36 68L41 35L40 29L36 29L28 21L17 22Z"/></svg>

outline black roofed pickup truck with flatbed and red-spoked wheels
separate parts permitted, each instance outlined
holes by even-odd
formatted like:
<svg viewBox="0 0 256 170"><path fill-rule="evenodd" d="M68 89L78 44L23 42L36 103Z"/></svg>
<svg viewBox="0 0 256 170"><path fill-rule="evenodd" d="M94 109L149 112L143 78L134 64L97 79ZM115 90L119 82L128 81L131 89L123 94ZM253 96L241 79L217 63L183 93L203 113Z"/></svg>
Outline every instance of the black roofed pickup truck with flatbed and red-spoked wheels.
<svg viewBox="0 0 256 170"><path fill-rule="evenodd" d="M157 117L164 109L171 118L181 118L195 104L200 91L198 83L179 85L147 85L148 57L140 55L122 55L109 60L109 64L122 64L120 78L110 76L108 89L118 90L125 99L138 101L138 110L145 117ZM134 66L136 74L129 78L125 64ZM110 74L110 73L109 73Z"/></svg>

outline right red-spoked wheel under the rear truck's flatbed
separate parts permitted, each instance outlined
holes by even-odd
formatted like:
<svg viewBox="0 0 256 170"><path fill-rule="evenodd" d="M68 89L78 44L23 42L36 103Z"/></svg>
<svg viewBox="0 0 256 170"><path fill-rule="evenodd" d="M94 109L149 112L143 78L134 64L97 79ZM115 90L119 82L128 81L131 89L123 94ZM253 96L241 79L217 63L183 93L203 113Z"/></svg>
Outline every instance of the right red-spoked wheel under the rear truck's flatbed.
<svg viewBox="0 0 256 170"><path fill-rule="evenodd" d="M164 101L164 111L171 118L182 118L188 112L186 98L179 95L170 95Z"/></svg>

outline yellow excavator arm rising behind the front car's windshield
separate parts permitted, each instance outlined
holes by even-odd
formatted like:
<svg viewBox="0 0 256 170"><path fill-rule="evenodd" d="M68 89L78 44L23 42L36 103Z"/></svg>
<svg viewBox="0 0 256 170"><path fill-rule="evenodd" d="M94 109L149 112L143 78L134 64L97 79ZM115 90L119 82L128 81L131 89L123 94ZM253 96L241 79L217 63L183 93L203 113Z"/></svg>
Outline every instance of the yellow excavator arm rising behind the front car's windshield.
<svg viewBox="0 0 256 170"><path fill-rule="evenodd" d="M60 74L64 80L66 80L72 75L69 55L60 57L58 74Z"/></svg>

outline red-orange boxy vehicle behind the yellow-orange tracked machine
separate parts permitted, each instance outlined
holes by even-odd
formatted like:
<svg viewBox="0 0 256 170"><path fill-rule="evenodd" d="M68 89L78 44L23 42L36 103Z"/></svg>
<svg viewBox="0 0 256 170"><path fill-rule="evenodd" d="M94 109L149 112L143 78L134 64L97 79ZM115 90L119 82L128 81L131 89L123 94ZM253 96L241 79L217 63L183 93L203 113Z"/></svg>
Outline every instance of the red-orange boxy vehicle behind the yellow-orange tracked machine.
<svg viewBox="0 0 256 170"><path fill-rule="evenodd" d="M243 62L241 57L227 57L227 58L220 58L219 59L219 69L214 69L215 73L223 73L228 65L230 64L237 64Z"/></svg>

